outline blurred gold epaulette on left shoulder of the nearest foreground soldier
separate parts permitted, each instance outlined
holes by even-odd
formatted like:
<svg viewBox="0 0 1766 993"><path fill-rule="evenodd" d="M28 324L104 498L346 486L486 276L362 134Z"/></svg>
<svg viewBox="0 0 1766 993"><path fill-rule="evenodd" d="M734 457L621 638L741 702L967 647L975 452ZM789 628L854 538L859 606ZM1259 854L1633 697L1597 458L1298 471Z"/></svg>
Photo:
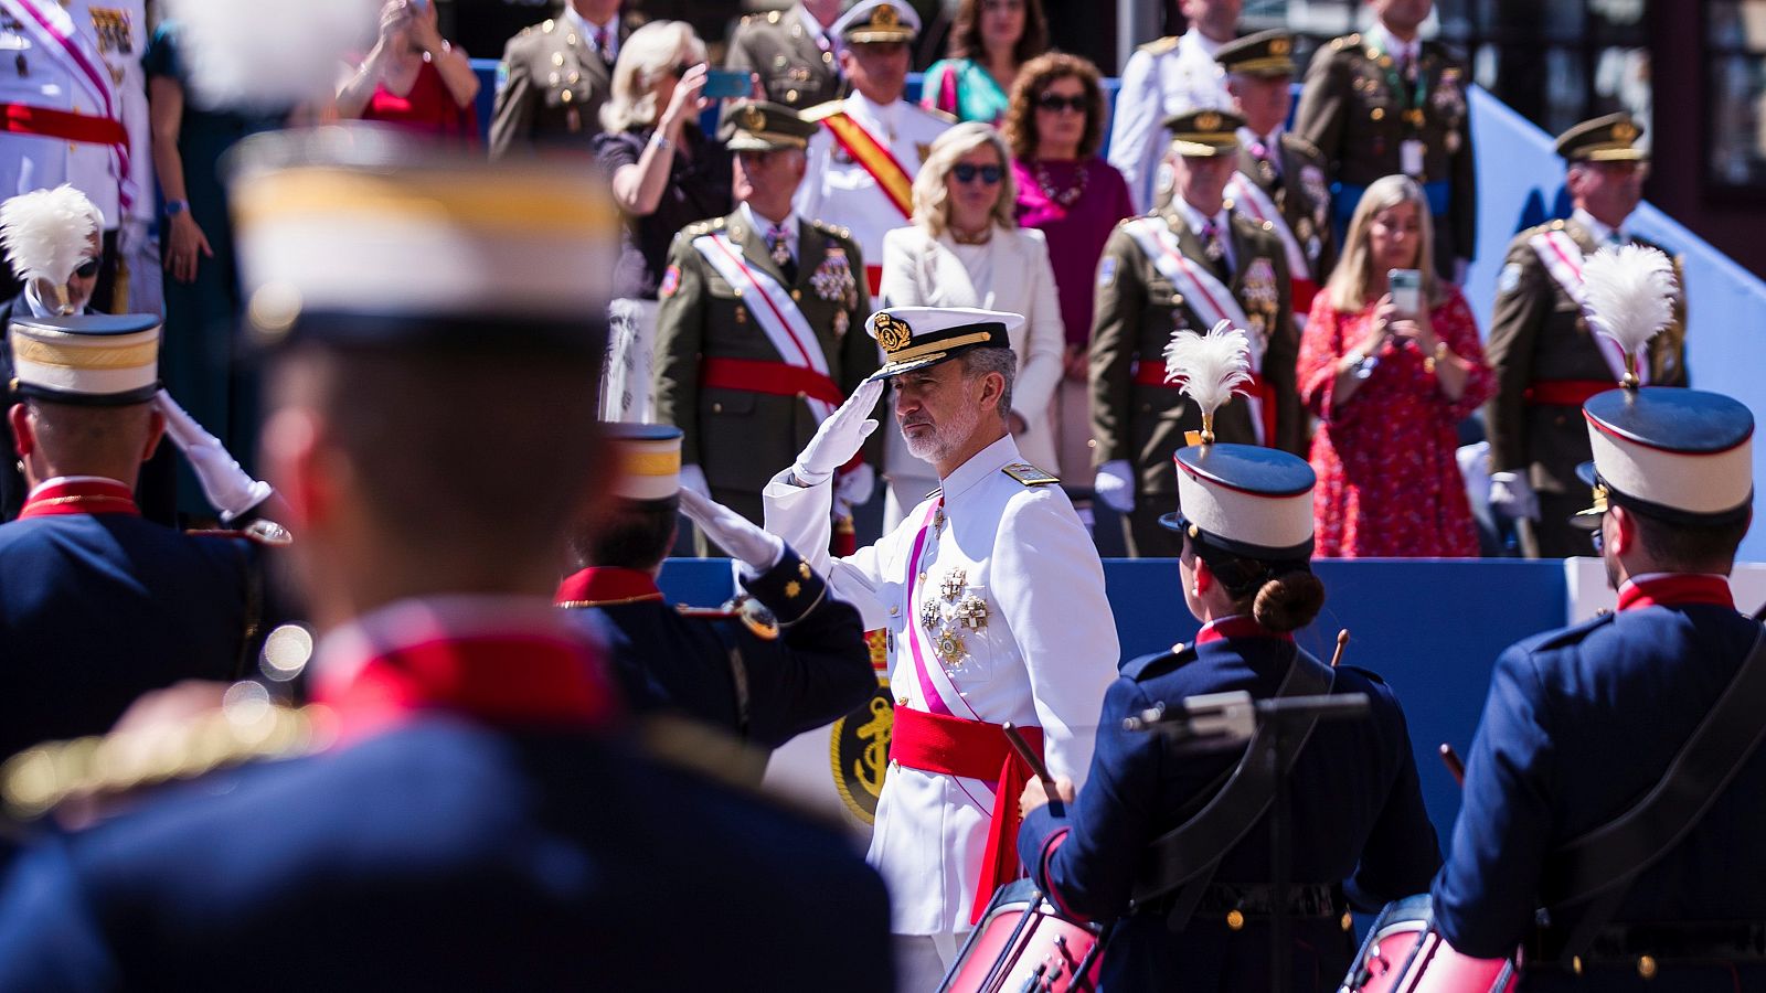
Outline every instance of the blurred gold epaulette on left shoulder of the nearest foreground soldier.
<svg viewBox="0 0 1766 993"><path fill-rule="evenodd" d="M328 707L283 707L260 696L170 726L25 749L0 765L0 797L14 818L32 820L76 797L115 797L249 762L297 758L334 740L337 719Z"/></svg>

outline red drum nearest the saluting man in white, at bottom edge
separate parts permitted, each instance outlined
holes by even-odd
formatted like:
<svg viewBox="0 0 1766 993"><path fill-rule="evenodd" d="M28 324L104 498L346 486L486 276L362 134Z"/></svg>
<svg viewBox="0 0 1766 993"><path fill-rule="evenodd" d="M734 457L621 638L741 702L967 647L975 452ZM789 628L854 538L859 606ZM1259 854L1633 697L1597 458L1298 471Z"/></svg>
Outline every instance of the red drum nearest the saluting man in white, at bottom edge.
<svg viewBox="0 0 1766 993"><path fill-rule="evenodd" d="M1031 880L994 891L940 993L1091 993L1107 929L1065 917Z"/></svg>

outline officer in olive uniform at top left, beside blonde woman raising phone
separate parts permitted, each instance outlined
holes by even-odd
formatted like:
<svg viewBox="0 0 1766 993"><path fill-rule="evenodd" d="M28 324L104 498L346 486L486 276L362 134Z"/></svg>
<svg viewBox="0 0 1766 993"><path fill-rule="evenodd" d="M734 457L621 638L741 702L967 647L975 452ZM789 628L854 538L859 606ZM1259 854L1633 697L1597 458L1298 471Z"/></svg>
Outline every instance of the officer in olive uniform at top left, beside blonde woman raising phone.
<svg viewBox="0 0 1766 993"><path fill-rule="evenodd" d="M565 0L556 18L509 39L496 67L491 157L544 145L588 150L629 34L620 0Z"/></svg>

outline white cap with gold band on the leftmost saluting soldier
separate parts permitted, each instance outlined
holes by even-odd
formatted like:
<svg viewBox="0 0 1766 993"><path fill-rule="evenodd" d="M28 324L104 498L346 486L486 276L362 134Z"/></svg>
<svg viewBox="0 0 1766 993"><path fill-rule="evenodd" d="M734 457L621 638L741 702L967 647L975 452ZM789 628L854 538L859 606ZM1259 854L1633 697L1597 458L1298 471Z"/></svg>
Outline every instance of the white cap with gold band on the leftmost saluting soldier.
<svg viewBox="0 0 1766 993"><path fill-rule="evenodd" d="M12 318L12 390L19 396L124 406L159 392L159 318L71 315Z"/></svg>

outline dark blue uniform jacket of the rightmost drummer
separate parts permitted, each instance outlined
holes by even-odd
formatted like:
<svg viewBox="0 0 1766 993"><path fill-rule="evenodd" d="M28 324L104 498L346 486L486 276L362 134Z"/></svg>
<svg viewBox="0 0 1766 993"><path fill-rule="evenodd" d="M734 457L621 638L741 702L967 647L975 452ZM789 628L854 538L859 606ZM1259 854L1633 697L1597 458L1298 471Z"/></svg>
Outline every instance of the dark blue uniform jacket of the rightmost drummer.
<svg viewBox="0 0 1766 993"><path fill-rule="evenodd" d="M1466 763L1453 857L1434 885L1436 917L1457 949L1485 958L1515 949L1531 931L1551 853L1660 781L1757 633L1725 606L1646 606L1503 652ZM1612 921L1766 921L1762 839L1766 754L1755 751L1685 841L1637 878ZM1577 921L1579 910L1554 913L1563 928ZM1581 986L1547 970L1524 986L1766 989L1766 968L1662 966L1648 986L1635 966L1589 972Z"/></svg>

